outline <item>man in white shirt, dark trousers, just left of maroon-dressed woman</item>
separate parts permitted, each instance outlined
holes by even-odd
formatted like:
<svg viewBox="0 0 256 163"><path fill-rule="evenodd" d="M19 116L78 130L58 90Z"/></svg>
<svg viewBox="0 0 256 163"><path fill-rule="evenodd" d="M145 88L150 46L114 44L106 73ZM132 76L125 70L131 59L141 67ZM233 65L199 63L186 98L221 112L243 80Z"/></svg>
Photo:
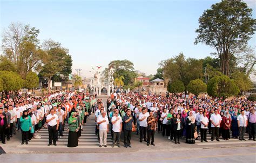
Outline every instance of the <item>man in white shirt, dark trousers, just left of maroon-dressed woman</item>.
<svg viewBox="0 0 256 163"><path fill-rule="evenodd" d="M212 141L214 140L214 136L216 138L217 141L219 140L219 127L220 127L220 123L221 123L221 117L220 114L218 114L218 109L215 108L214 110L214 114L211 115L211 129L212 129Z"/></svg>

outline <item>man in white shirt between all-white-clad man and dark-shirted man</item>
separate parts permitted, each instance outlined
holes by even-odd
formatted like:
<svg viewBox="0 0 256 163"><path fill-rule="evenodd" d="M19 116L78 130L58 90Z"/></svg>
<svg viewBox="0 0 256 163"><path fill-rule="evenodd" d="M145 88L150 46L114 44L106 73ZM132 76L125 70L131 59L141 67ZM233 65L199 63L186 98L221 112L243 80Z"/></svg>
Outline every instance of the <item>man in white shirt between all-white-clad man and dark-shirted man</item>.
<svg viewBox="0 0 256 163"><path fill-rule="evenodd" d="M113 130L113 144L112 147L114 147L114 144L117 140L117 146L120 147L120 135L122 132L122 126L123 126L123 120L120 116L118 116L118 110L114 111L114 116L111 118L111 123L113 124L112 130Z"/></svg>

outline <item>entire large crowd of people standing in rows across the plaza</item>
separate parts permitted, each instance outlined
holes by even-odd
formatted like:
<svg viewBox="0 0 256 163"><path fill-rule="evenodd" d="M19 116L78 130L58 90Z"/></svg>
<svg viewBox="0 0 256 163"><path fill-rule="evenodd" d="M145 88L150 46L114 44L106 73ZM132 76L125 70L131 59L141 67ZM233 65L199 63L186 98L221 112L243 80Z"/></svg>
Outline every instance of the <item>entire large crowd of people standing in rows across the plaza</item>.
<svg viewBox="0 0 256 163"><path fill-rule="evenodd" d="M68 147L78 146L86 119L95 116L95 134L99 147L107 147L107 133L111 133L112 147L120 147L123 132L124 146L131 146L132 132L139 134L139 142L155 145L154 135L166 140L187 144L196 140L207 142L231 137L255 141L256 101L246 98L197 98L188 94L172 96L112 93L106 103L95 96L70 91L55 92L42 97L21 96L3 98L0 103L0 134L5 144L21 131L22 144L29 144L42 127L48 128L49 146L62 139L64 126L68 126ZM93 117L94 118L94 117ZM230 134L232 132L232 135Z"/></svg>

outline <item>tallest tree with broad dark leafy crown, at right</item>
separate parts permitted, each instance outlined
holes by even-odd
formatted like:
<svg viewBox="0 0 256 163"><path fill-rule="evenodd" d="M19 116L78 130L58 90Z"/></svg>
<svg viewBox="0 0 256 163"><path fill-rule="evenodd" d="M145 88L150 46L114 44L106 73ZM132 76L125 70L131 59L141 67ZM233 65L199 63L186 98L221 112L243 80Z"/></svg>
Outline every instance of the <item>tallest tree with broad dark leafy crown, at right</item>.
<svg viewBox="0 0 256 163"><path fill-rule="evenodd" d="M217 50L220 70L230 75L230 62L237 49L245 46L254 34L256 19L242 1L224 0L213 4L199 18L195 44L205 43Z"/></svg>

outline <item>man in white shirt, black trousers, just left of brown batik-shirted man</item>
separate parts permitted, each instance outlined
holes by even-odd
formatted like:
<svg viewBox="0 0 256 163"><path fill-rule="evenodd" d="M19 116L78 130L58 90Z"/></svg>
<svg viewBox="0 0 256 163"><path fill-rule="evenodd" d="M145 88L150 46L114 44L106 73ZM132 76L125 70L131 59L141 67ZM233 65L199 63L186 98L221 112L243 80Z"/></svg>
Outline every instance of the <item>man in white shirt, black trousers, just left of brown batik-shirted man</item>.
<svg viewBox="0 0 256 163"><path fill-rule="evenodd" d="M142 113L139 114L139 142L142 142L143 138L147 142L147 117L149 117L149 112L146 112L146 108L143 108Z"/></svg>

